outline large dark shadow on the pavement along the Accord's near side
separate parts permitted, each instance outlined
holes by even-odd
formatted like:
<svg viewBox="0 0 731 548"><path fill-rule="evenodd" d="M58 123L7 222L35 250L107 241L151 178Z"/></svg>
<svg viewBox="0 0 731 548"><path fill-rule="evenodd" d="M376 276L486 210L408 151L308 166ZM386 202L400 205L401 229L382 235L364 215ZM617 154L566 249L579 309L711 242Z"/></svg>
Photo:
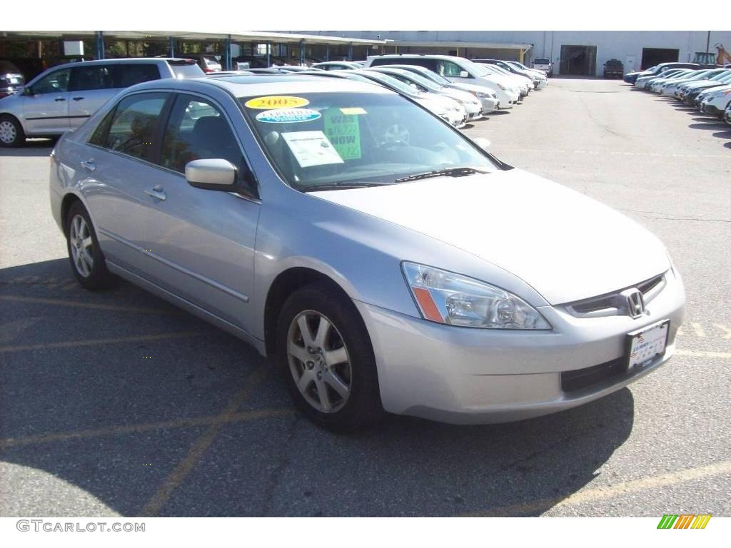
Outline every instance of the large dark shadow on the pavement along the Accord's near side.
<svg viewBox="0 0 731 548"><path fill-rule="evenodd" d="M621 389L504 425L335 435L250 346L129 283L86 292L67 259L38 262L0 270L0 304L2 515L536 516L632 433Z"/></svg>

